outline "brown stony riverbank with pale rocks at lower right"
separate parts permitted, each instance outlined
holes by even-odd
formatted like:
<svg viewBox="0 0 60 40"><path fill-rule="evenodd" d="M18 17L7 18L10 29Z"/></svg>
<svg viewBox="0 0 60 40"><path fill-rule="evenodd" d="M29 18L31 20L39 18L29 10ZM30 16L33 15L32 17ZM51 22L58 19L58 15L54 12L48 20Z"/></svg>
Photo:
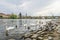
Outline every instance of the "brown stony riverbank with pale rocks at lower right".
<svg viewBox="0 0 60 40"><path fill-rule="evenodd" d="M24 37L25 39L30 39L30 40L48 40L49 37L51 37L54 40L59 40L59 33L57 33L56 30L52 31L41 31L38 30L35 33L31 34L26 34Z"/></svg>

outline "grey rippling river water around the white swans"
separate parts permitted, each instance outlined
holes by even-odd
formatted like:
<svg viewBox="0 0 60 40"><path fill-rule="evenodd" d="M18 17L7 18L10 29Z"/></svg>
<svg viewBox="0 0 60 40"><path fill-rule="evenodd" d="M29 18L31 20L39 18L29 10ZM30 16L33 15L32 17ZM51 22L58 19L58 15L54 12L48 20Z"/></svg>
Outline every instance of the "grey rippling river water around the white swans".
<svg viewBox="0 0 60 40"><path fill-rule="evenodd" d="M15 27L18 26L17 29L10 30L9 35L12 34L22 34L24 32L28 32L27 27L24 27L24 24L36 24L37 21L42 21L44 19L0 19L0 39L5 38L5 32L6 32L6 26L8 27ZM45 19L45 20L51 20L51 19ZM37 30L39 26L31 26L30 30Z"/></svg>

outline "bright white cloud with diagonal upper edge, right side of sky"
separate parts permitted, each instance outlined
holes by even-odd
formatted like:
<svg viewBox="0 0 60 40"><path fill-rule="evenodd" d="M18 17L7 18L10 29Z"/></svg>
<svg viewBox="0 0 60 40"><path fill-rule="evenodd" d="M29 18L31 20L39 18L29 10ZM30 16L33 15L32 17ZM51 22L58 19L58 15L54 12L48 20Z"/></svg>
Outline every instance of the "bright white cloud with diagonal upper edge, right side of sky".
<svg viewBox="0 0 60 40"><path fill-rule="evenodd" d="M41 11L36 12L37 15L55 15L55 16L60 16L60 1L55 1L52 4L44 7Z"/></svg>

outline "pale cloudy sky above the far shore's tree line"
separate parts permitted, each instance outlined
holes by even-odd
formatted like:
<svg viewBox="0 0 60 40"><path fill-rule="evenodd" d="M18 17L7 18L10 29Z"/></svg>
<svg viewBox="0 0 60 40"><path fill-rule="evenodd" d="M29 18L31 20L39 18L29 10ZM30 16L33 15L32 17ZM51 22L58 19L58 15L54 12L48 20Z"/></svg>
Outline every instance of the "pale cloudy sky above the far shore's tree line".
<svg viewBox="0 0 60 40"><path fill-rule="evenodd" d="M60 16L60 0L0 0L0 13Z"/></svg>

